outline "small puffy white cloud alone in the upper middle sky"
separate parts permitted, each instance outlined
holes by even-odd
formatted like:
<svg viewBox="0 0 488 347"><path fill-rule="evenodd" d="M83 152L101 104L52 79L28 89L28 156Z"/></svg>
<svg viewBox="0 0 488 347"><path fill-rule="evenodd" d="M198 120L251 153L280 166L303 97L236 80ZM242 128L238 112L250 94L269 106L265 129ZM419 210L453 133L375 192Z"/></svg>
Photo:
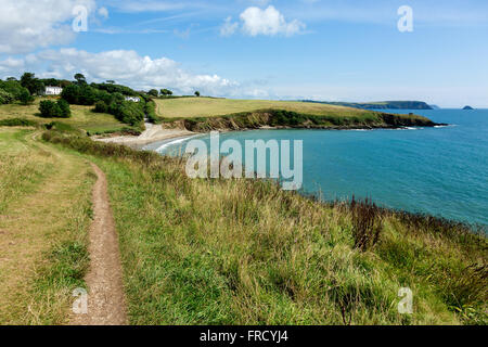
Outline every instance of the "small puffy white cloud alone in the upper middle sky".
<svg viewBox="0 0 488 347"><path fill-rule="evenodd" d="M280 11L272 5L266 10L255 7L248 8L241 14L241 20L243 31L251 36L293 36L305 29L305 24L297 20L286 22Z"/></svg>

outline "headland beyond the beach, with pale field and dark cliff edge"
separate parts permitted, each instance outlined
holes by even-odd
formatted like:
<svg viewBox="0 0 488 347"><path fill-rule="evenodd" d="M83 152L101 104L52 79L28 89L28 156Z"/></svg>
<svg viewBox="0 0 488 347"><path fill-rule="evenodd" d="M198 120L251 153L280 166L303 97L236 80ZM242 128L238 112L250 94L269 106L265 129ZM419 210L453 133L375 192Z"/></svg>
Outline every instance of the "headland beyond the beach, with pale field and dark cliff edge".
<svg viewBox="0 0 488 347"><path fill-rule="evenodd" d="M197 132L293 128L387 128L433 126L416 115L393 115L311 102L177 98L156 100L156 113L165 124ZM183 120L184 119L184 120Z"/></svg>

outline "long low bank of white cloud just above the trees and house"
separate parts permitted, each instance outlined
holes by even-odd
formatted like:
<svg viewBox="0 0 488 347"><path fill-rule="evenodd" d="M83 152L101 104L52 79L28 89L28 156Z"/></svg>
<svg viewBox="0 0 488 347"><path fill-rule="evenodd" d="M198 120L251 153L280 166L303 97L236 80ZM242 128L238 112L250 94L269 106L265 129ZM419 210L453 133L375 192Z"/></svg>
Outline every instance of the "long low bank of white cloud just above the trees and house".
<svg viewBox="0 0 488 347"><path fill-rule="evenodd" d="M48 72L37 73L40 77L73 79L76 73L82 73L89 80L113 79L136 89L172 88L180 93L193 93L198 89L204 94L223 95L239 87L218 75L192 74L167 57L151 59L126 50L90 53L70 48L0 61L0 72L4 76L39 72L42 66L48 66Z"/></svg>

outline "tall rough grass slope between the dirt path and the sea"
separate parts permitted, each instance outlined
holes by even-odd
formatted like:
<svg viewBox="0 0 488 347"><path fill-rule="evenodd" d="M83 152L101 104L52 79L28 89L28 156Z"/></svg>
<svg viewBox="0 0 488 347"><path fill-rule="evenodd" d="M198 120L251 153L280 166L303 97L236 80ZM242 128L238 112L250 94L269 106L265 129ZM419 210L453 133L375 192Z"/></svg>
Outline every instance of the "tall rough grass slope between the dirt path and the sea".
<svg viewBox="0 0 488 347"><path fill-rule="evenodd" d="M486 267L473 267L486 265L487 241L459 226L385 214L378 244L360 252L344 206L266 182L191 180L181 163L88 139L63 142L97 154L107 174L133 324L487 322ZM403 286L413 316L397 311Z"/></svg>

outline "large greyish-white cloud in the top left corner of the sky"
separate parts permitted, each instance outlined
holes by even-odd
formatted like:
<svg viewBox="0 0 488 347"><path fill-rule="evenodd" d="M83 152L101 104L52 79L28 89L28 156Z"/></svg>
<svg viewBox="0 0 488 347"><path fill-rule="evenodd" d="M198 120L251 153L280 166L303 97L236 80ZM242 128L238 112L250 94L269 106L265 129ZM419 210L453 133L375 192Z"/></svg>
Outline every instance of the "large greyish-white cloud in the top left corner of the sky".
<svg viewBox="0 0 488 347"><path fill-rule="evenodd" d="M0 11L0 53L27 53L37 48L70 42L73 9L95 9L94 0L2 0Z"/></svg>

